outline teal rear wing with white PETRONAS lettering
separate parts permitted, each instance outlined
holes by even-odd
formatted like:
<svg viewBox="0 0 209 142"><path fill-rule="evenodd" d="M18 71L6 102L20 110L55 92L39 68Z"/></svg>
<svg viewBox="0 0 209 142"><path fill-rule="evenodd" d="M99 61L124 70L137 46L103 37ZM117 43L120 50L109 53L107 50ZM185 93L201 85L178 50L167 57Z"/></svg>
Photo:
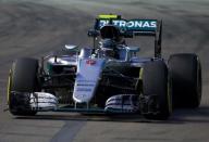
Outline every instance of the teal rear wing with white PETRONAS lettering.
<svg viewBox="0 0 209 142"><path fill-rule="evenodd" d="M133 36L153 36L155 57L161 57L162 21L144 18L123 20L121 15L99 15L96 18L94 29L100 30L106 25L113 25L122 33Z"/></svg>

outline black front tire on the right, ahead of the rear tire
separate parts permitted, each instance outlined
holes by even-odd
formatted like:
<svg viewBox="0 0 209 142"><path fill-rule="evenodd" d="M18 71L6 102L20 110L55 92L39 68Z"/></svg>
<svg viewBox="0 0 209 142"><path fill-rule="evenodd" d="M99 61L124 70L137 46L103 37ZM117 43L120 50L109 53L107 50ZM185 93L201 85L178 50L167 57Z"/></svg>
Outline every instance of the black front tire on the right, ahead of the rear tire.
<svg viewBox="0 0 209 142"><path fill-rule="evenodd" d="M163 61L148 62L143 70L143 94L157 95L158 113L144 114L148 119L168 119L172 113L168 68Z"/></svg>

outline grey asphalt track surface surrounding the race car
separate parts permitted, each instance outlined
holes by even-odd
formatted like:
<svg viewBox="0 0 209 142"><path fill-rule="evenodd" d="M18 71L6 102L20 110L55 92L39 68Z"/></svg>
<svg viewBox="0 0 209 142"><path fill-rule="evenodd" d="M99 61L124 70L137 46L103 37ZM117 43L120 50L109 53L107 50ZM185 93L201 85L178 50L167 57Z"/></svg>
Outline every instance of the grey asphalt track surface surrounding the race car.
<svg viewBox="0 0 209 142"><path fill-rule="evenodd" d="M0 142L207 142L209 141L208 0L0 0ZM202 64L202 101L197 109L177 109L169 120L139 116L85 116L39 113L13 117L7 108L7 78L12 61L40 57L65 43L90 46L87 29L99 13L126 18L163 20L163 56L195 52ZM152 47L140 40L142 54Z"/></svg>

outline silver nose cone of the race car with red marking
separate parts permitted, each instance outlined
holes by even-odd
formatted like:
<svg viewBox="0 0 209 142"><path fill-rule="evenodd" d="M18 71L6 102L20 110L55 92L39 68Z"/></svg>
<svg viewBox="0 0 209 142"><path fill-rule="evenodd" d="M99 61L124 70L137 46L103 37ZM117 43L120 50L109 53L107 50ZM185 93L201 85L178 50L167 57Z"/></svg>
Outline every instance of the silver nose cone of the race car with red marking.
<svg viewBox="0 0 209 142"><path fill-rule="evenodd" d="M73 100L76 103L88 103L95 95L104 60L81 59L78 61Z"/></svg>

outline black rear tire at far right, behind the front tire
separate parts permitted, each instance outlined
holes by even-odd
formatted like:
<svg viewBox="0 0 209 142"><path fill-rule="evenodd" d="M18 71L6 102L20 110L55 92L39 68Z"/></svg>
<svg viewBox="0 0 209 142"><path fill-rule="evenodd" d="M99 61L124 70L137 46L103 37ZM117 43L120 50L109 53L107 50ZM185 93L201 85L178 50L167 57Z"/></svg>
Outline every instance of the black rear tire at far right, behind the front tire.
<svg viewBox="0 0 209 142"><path fill-rule="evenodd" d="M174 107L198 107L201 101L201 65L190 53L173 54L169 59Z"/></svg>

